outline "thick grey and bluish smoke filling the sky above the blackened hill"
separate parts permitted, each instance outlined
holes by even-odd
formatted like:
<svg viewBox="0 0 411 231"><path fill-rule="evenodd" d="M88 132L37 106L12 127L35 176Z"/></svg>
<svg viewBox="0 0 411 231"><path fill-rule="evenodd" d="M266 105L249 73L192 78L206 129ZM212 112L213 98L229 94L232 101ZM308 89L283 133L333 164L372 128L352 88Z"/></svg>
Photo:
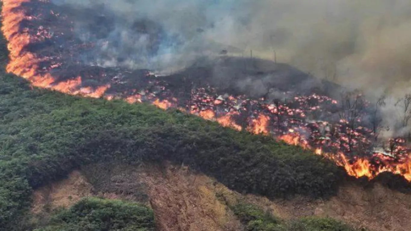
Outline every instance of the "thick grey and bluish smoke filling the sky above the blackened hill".
<svg viewBox="0 0 411 231"><path fill-rule="evenodd" d="M104 15L101 25L81 17L76 24L81 39L96 42L84 60L97 65L175 69L222 50L252 50L376 97L390 88L389 102L411 86L409 0L52 1ZM383 113L392 117L393 108Z"/></svg>

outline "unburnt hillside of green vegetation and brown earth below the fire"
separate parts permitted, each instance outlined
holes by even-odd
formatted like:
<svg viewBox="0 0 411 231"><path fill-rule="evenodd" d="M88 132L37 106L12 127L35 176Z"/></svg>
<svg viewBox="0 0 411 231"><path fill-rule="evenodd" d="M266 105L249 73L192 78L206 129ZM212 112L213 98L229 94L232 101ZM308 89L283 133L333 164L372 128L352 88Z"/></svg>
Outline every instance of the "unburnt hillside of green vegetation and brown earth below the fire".
<svg viewBox="0 0 411 231"><path fill-rule="evenodd" d="M4 43L2 54L4 64L7 61ZM113 213L123 208L142 213L142 216L147 217L144 219L152 219L149 218L152 217L150 210L145 209L145 206L151 207L155 210L159 230L185 230L181 225L192 225L191 229L186 229L196 230L204 222L210 224L207 219L215 221L217 218L223 218L226 222L219 223L217 219L215 230L222 230L222 226L231 227L231 230L245 226L260 227L252 230L296 230L293 228L296 226L300 230L350 230L336 228L346 226L329 219L295 220L296 217L310 215L330 215L355 226L368 225L373 228L371 230L393 230L393 227L406 230L409 227L405 217L402 219L397 216L400 223L391 220L398 208L402 208L399 210L402 215L409 213L406 206L400 207L404 201L409 201L408 196L390 189L379 189L379 186L371 191L349 186L352 184L344 180L346 173L342 169L297 146L278 143L266 136L237 132L221 127L216 122L175 110L164 112L146 104L130 105L122 101L88 99L32 89L25 80L11 74L2 74L1 81L2 230L53 230L56 227L64 230L75 229L73 227L77 224L91 224L92 220L98 218L81 219L76 215L79 208L84 208L84 203L89 204L89 199L81 199L89 196L99 196L109 201L91 199L88 211L111 211L105 216L113 217L116 221L135 219L127 217L134 212L126 217L121 213ZM174 170L177 173L169 173L171 170L167 170L169 167L164 161L189 166L192 170L184 173L185 170L178 170L178 167ZM95 162L101 163L97 169L89 165ZM136 184L137 189L141 190L136 190L134 186L130 188L130 183L136 181L127 182L127 178L136 176L136 173L119 173L115 170L130 169L122 168L122 164L134 166L131 169L138 169L136 166L140 164L154 165L149 168L151 171L137 174L141 185L146 185L144 187L148 189L141 189L139 184ZM72 173L75 169L81 170L78 177L83 180L80 180L80 184L76 180L74 185L59 181L69 173L69 179L72 179L72 174L76 175ZM116 174L118 176L114 177ZM198 174L202 180L197 185L189 181L191 176ZM217 181L208 180L206 176ZM115 185L112 185L113 182ZM60 187L53 186L56 183ZM181 188L173 188L173 185L179 184ZM122 188L121 185L127 187ZM212 189L210 185L216 187ZM47 193L50 192L48 190L53 192L53 187L57 188L55 190L58 193ZM60 188L70 190L60 191ZM188 199L181 197L182 193ZM248 199L244 200L244 196L239 193L267 196L271 200L252 195L246 196ZM236 196L227 196L233 194ZM295 197L294 194L305 195L302 197L305 199ZM275 199L284 196L288 198L285 201ZM315 200L320 197L325 201ZM44 204L44 198L51 202ZM390 201L393 198L395 201ZM145 206L122 204L112 199L135 201ZM179 202L181 199L184 201ZM57 204L53 205L53 201ZM238 201L245 201L246 204L237 205ZM349 206L347 202L352 205ZM383 204L376 206L376 203ZM184 204L199 206L201 209L181 207ZM74 207L58 212L61 206ZM36 213L36 208L40 213ZM277 210L270 213L274 215L265 215L264 211L268 208ZM367 209L374 212L369 214ZM377 211L384 209L391 212L381 214L381 211ZM351 211L352 214L343 213L342 210ZM169 217L171 212L180 218ZM204 218L204 214L208 215ZM64 218L67 216L71 218ZM178 221L177 228L175 220ZM194 221L199 223L194 225ZM141 225L120 223L120 227ZM144 224L146 230L152 227L152 223ZM93 225L100 227L107 224ZM383 225L385 227L381 228Z"/></svg>

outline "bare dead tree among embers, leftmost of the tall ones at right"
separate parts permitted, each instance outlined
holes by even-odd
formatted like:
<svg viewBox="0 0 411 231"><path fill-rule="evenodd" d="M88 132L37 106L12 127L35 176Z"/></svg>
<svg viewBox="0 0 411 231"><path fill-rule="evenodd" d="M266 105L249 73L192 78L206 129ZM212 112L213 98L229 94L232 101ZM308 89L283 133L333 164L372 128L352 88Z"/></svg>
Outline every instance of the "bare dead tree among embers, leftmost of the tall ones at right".
<svg viewBox="0 0 411 231"><path fill-rule="evenodd" d="M346 92L342 94L341 108L339 118L345 120L346 135L348 138L348 151L353 151L353 140L355 138L355 129L360 121L363 110L365 109L365 100L358 91Z"/></svg>

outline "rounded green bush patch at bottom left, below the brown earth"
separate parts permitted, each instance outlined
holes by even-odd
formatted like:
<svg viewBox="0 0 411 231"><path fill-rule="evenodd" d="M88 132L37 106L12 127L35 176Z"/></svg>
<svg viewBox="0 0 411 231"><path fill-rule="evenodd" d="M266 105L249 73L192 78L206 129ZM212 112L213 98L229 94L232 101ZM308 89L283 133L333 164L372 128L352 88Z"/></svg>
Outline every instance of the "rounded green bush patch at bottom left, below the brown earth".
<svg viewBox="0 0 411 231"><path fill-rule="evenodd" d="M35 231L150 231L154 227L154 214L149 208L118 200L86 198L61 210L47 226Z"/></svg>

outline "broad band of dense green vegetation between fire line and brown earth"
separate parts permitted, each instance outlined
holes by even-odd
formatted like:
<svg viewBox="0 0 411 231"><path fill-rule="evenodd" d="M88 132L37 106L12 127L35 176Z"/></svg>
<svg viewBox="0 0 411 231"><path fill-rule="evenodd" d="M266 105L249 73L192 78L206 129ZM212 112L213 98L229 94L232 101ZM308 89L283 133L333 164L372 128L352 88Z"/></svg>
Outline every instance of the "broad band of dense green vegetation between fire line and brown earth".
<svg viewBox="0 0 411 231"><path fill-rule="evenodd" d="M0 230L31 229L25 220L32 190L97 161L184 163L231 189L269 197L332 195L345 176L332 162L301 148L179 111L32 90L27 81L5 74L6 63L2 39ZM81 219L65 219L61 225Z"/></svg>

